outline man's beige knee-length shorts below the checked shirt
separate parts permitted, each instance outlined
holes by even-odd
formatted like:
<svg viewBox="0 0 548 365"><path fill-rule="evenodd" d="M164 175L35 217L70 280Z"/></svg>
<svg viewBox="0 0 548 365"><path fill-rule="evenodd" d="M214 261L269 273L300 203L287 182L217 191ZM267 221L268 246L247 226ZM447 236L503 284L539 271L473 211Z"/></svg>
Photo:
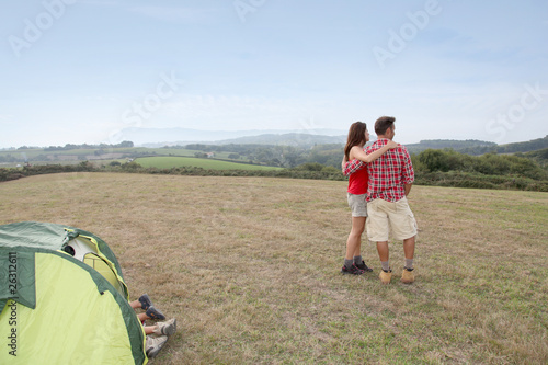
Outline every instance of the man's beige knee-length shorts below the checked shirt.
<svg viewBox="0 0 548 365"><path fill-rule="evenodd" d="M395 203L383 199L369 202L367 214L367 238L370 241L388 241L390 231L392 239L396 240L404 240L416 235L416 220L406 197Z"/></svg>

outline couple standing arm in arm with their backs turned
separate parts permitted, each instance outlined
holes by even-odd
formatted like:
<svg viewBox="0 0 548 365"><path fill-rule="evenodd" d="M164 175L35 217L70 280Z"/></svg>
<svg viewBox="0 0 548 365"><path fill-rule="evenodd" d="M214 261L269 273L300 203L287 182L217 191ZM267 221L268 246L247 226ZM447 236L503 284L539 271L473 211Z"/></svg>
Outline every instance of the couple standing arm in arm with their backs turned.
<svg viewBox="0 0 548 365"><path fill-rule="evenodd" d="M344 148L343 173L349 176L349 205L352 230L346 241L343 274L361 275L370 272L361 255L362 233L367 225L367 238L377 242L381 271L379 278L389 284L388 235L403 240L406 263L401 282L414 282L413 256L416 221L409 208L407 195L414 181L413 166L406 147L392 141L396 118L383 116L375 122L377 141L364 149L369 140L367 125L353 123ZM369 219L367 219L367 217Z"/></svg>

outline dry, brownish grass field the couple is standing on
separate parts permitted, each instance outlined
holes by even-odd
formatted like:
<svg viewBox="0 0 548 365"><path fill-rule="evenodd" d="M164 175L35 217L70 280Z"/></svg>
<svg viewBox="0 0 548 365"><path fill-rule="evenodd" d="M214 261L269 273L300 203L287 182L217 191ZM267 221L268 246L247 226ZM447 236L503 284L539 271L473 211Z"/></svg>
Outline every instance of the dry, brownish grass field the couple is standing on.
<svg viewBox="0 0 548 365"><path fill-rule="evenodd" d="M178 333L151 364L547 364L548 195L413 186L416 282L342 276L345 183L69 173L0 183L0 224L103 238Z"/></svg>

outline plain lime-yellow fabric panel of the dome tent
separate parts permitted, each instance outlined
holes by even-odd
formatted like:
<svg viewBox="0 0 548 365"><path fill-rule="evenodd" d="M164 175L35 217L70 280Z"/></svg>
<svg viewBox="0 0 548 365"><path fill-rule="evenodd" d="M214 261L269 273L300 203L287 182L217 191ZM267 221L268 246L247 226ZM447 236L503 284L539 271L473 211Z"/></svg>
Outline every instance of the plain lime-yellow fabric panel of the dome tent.
<svg viewBox="0 0 548 365"><path fill-rule="evenodd" d="M35 262L36 309L12 300L3 308L0 328L16 338L15 346L0 351L0 364L135 364L132 318L113 293L98 289L90 273L62 254L36 253Z"/></svg>

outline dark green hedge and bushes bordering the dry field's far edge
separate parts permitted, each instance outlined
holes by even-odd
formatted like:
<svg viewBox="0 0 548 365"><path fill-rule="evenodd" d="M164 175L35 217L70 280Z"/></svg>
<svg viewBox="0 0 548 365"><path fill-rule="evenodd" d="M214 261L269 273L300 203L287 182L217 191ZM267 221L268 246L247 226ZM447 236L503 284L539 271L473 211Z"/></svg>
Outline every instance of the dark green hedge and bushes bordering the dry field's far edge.
<svg viewBox="0 0 548 365"><path fill-rule="evenodd" d="M548 149L541 153L546 157ZM540 155L540 153L539 153ZM98 167L89 161L79 164L26 166L22 169L0 169L0 181L28 175L59 172L129 172L179 175L218 176L270 176L293 179L345 180L340 168L342 153L338 153L338 167L319 162L305 162L283 170L206 170L185 168L142 168L137 162L111 163ZM537 156L538 157L538 156ZM454 150L426 150L412 156L415 184L476 189L507 189L548 192L548 170L532 158L489 153L472 157ZM546 161L546 159L545 159Z"/></svg>

